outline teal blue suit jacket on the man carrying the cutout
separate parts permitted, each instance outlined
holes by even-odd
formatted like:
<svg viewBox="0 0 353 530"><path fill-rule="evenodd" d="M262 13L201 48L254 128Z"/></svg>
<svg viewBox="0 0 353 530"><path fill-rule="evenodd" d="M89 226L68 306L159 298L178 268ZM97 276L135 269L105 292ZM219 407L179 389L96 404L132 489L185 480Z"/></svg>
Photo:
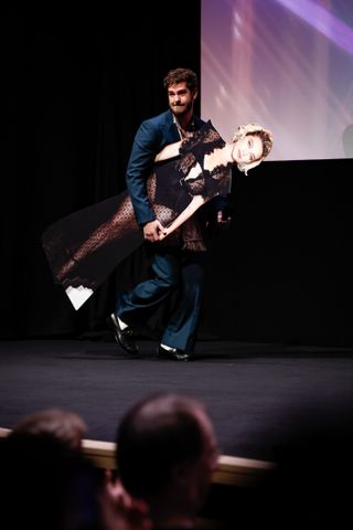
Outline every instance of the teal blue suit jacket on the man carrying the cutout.
<svg viewBox="0 0 353 530"><path fill-rule="evenodd" d="M197 116L193 117L193 130L199 130L204 124L205 121ZM146 191L146 182L151 173L154 157L163 147L179 140L180 136L170 109L142 121L135 136L126 171L126 183L140 225L156 219Z"/></svg>

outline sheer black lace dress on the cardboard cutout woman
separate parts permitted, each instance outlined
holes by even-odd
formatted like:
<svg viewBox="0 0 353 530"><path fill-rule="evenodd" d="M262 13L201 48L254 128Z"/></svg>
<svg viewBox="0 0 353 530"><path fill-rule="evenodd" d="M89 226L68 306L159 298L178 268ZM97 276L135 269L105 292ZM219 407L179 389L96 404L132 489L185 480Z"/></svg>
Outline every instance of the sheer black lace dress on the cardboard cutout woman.
<svg viewBox="0 0 353 530"><path fill-rule="evenodd" d="M224 144L211 121L207 121L182 144L178 157L154 165L147 182L147 192L157 219L164 226L178 218L193 195L201 194L208 201L217 194L229 192L229 165L212 171L203 168L205 155ZM201 168L200 173L188 179L196 165ZM164 241L180 244L182 239L184 247L201 250L194 243L201 239L196 216L193 215L184 224L185 230L178 230ZM142 231L136 222L127 190L56 221L42 235L54 280L64 287L75 309L142 242Z"/></svg>

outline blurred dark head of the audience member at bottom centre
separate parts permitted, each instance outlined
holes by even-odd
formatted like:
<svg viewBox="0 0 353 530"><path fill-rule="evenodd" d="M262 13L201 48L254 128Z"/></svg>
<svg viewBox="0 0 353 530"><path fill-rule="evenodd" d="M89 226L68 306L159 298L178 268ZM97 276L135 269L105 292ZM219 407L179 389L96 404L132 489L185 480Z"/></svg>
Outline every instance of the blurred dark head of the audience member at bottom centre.
<svg viewBox="0 0 353 530"><path fill-rule="evenodd" d="M173 393L147 396L116 436L119 480L146 502L153 528L192 529L217 466L212 421L201 402Z"/></svg>

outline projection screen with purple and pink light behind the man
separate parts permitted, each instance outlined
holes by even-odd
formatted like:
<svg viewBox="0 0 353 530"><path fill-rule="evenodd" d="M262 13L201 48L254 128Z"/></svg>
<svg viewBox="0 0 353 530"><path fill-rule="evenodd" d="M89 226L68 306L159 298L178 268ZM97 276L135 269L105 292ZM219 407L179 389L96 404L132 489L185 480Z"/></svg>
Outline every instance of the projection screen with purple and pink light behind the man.
<svg viewBox="0 0 353 530"><path fill-rule="evenodd" d="M353 157L353 0L202 0L201 115L272 130L271 160Z"/></svg>

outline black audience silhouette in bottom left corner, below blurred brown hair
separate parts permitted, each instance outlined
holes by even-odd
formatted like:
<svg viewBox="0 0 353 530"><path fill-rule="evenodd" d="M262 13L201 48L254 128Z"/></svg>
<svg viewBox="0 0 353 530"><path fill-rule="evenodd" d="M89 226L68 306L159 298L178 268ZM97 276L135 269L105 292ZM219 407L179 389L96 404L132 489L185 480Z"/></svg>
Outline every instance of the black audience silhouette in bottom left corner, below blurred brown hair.
<svg viewBox="0 0 353 530"><path fill-rule="evenodd" d="M1 517L11 529L97 530L104 487L90 460L51 433L1 439Z"/></svg>

